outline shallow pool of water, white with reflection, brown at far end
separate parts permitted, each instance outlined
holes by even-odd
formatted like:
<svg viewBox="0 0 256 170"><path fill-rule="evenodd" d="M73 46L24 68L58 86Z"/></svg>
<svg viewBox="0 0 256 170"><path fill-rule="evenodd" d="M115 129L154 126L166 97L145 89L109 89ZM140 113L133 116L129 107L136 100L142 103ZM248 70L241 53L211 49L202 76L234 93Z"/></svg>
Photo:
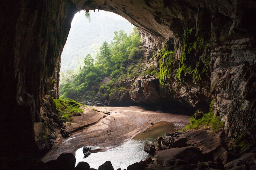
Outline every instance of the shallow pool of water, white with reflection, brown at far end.
<svg viewBox="0 0 256 170"><path fill-rule="evenodd" d="M110 161L114 169L127 169L127 166L145 160L150 155L143 151L147 142L156 142L159 136L165 136L165 132L176 131L175 126L170 122L159 122L152 125L145 132L137 134L133 139L124 144L108 149L104 152L91 153L90 156L84 158L83 148L75 153L76 165L78 162L87 162L91 168L98 169L106 161ZM88 146L91 147L91 146ZM92 149L97 149L93 147Z"/></svg>

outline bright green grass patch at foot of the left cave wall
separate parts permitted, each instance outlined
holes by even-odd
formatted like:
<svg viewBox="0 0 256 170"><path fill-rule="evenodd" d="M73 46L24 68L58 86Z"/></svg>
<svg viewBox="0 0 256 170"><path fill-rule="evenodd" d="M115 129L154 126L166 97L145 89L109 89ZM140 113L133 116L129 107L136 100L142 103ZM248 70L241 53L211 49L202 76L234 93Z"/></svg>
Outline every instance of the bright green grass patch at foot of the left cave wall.
<svg viewBox="0 0 256 170"><path fill-rule="evenodd" d="M81 104L75 100L65 100L65 99L54 99L56 104L57 113L62 116L62 121L72 121L72 114L81 113L84 110L80 108Z"/></svg>

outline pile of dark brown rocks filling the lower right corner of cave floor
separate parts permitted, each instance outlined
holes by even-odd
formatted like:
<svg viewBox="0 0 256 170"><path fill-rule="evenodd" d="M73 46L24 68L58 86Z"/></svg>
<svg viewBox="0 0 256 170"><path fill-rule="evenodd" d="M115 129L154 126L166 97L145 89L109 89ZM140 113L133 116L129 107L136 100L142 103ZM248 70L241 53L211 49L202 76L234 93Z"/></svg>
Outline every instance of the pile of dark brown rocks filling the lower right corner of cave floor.
<svg viewBox="0 0 256 170"><path fill-rule="evenodd" d="M156 148L145 145L144 151L154 155L154 164L144 169L256 169L255 149L235 155L227 139L221 130L166 133L157 139Z"/></svg>

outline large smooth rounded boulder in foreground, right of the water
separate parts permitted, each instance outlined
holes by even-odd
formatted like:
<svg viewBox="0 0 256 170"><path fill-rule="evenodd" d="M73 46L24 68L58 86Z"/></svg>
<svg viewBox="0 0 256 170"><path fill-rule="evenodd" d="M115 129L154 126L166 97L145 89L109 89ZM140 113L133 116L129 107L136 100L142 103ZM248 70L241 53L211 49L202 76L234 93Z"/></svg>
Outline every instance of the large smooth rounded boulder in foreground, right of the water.
<svg viewBox="0 0 256 170"><path fill-rule="evenodd" d="M203 161L203 154L194 146L157 150L155 152L156 165L170 166L174 159L181 159L189 164L197 164L198 161Z"/></svg>

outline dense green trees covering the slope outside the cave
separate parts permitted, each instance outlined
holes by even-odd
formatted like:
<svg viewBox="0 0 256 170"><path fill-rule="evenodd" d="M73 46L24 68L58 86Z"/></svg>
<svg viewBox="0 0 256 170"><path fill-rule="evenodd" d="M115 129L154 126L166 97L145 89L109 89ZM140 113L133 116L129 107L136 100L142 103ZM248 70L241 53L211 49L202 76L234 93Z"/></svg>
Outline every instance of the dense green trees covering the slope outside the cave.
<svg viewBox="0 0 256 170"><path fill-rule="evenodd" d="M109 44L103 42L95 62L90 54L85 54L80 72L67 72L64 83L60 84L61 97L83 101L91 99L98 92L105 97L111 96L114 91L122 92L124 89L117 82L133 79L142 69L143 49L140 45L136 27L129 36L123 30L115 31ZM103 83L106 78L110 81Z"/></svg>

